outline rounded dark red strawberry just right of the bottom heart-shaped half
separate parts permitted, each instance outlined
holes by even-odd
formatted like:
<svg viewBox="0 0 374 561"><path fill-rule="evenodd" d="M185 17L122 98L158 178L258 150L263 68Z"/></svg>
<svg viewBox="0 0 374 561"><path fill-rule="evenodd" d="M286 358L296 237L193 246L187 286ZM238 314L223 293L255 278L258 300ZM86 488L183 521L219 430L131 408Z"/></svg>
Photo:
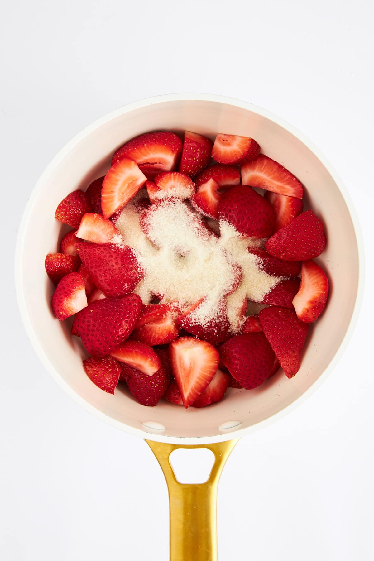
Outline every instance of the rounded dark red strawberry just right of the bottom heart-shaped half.
<svg viewBox="0 0 374 561"><path fill-rule="evenodd" d="M236 335L220 346L220 358L243 388L253 389L269 377L274 352L264 333Z"/></svg>

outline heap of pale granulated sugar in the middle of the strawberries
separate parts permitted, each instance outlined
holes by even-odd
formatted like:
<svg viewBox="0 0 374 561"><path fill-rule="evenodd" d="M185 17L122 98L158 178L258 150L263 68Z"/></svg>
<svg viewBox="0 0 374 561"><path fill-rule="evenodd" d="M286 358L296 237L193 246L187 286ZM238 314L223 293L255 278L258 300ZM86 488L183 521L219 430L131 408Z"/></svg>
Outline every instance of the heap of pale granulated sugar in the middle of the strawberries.
<svg viewBox="0 0 374 561"><path fill-rule="evenodd" d="M219 224L221 235L217 238L179 199L164 199L143 214L143 226L153 243L142 232L139 217L135 205L128 204L116 226L146 272L134 291L144 304L156 296L161 302L178 301L189 307L204 298L192 312L193 319L204 325L220 316L226 301L236 333L245 320L244 301L261 302L281 280L258 268L258 257L248 251L248 246L260 246L261 240L242 238L226 222ZM238 288L225 296L236 284L236 264L242 268L243 278Z"/></svg>

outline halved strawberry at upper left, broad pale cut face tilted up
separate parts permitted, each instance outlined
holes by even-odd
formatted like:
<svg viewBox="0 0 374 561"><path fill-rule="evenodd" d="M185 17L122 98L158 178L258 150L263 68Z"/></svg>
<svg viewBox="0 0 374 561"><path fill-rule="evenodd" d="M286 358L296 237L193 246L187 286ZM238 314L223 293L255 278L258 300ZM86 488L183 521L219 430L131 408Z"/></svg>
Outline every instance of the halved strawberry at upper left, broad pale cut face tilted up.
<svg viewBox="0 0 374 561"><path fill-rule="evenodd" d="M122 158L115 162L104 177L101 189L103 217L109 218L126 205L141 190L146 179L134 160Z"/></svg>

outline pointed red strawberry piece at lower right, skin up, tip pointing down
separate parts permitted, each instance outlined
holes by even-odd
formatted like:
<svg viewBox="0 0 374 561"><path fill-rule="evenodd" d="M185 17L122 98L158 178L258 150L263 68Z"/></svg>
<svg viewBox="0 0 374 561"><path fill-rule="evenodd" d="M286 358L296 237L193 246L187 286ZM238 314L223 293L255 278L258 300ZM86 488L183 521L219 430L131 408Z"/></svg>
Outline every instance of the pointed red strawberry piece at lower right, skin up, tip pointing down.
<svg viewBox="0 0 374 561"><path fill-rule="evenodd" d="M260 321L285 375L292 378L300 366L309 325L300 321L294 310L276 306L261 310Z"/></svg>

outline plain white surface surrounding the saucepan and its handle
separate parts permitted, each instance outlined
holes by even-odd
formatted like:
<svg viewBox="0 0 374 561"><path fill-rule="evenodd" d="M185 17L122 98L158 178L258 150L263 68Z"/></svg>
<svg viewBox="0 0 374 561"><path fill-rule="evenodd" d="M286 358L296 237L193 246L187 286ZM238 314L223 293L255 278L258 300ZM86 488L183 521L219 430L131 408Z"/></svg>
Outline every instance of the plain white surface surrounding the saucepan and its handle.
<svg viewBox="0 0 374 561"><path fill-rule="evenodd" d="M36 180L81 128L133 100L202 91L261 105L310 137L343 177L368 250L366 300L339 365L229 458L220 561L373 559L372 2L21 0L1 20L0 557L168 559L155 458L41 366L16 307L13 252Z"/></svg>

